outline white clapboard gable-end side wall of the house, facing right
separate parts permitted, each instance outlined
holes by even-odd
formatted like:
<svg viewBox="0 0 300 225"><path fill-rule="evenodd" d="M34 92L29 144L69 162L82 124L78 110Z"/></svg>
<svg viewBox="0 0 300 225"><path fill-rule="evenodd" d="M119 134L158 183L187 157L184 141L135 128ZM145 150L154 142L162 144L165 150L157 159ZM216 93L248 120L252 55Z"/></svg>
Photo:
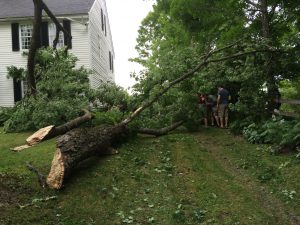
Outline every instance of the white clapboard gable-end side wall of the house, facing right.
<svg viewBox="0 0 300 225"><path fill-rule="evenodd" d="M102 31L101 9L106 17L106 36ZM105 1L96 0L89 13L90 66L93 74L90 76L91 86L98 87L102 82L114 82L114 74L109 68L109 51L113 52L111 31Z"/></svg>

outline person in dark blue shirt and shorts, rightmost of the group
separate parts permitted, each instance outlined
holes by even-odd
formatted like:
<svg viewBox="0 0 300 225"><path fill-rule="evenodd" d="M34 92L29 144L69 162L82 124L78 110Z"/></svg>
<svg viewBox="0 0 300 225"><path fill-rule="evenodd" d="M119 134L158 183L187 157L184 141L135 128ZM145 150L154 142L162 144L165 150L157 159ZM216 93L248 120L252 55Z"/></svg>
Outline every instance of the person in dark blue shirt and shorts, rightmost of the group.
<svg viewBox="0 0 300 225"><path fill-rule="evenodd" d="M228 127L228 104L230 99L231 96L229 91L226 90L223 85L220 85L218 87L217 108L221 128Z"/></svg>

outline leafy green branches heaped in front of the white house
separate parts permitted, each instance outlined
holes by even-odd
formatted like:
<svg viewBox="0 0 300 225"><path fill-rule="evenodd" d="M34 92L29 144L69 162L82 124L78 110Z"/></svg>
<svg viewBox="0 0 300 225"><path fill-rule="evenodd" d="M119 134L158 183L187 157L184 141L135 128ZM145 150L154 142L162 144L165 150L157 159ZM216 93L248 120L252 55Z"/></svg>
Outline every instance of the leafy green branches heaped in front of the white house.
<svg viewBox="0 0 300 225"><path fill-rule="evenodd" d="M5 132L38 129L60 125L77 117L88 106L91 90L89 72L75 68L77 59L51 48L42 49L37 57L35 75L37 94L25 97L17 104L10 119L4 123Z"/></svg>

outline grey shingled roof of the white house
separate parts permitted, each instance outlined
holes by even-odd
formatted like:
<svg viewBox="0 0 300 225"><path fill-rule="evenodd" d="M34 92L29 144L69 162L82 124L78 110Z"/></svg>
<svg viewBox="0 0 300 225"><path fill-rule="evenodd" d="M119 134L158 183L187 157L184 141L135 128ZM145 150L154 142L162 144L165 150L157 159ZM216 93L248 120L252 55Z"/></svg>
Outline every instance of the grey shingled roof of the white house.
<svg viewBox="0 0 300 225"><path fill-rule="evenodd" d="M87 14L95 0L44 0L56 16ZM33 0L0 0L0 19L33 17Z"/></svg>

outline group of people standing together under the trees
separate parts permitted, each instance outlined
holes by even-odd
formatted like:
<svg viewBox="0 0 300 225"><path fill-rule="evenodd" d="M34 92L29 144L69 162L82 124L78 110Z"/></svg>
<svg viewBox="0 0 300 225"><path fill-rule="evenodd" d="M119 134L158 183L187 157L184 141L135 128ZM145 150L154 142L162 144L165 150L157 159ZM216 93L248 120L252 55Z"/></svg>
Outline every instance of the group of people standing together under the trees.
<svg viewBox="0 0 300 225"><path fill-rule="evenodd" d="M228 104L230 100L229 91L222 85L218 87L217 97L198 93L199 110L205 127L208 127L208 122L212 126L216 122L218 127L228 128Z"/></svg>

